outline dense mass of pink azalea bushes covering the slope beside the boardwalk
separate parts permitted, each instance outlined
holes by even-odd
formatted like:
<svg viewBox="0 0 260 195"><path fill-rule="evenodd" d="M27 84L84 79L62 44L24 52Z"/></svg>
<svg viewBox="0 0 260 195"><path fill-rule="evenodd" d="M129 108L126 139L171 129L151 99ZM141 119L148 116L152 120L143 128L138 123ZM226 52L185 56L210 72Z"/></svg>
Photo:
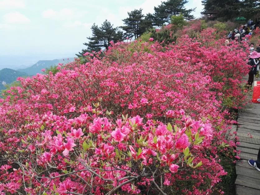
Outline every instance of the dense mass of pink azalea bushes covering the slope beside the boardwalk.
<svg viewBox="0 0 260 195"><path fill-rule="evenodd" d="M220 154L235 160L226 131L229 108L244 104L248 53L214 32L166 47L111 43L102 58L19 78L0 99L0 193L219 190Z"/></svg>

